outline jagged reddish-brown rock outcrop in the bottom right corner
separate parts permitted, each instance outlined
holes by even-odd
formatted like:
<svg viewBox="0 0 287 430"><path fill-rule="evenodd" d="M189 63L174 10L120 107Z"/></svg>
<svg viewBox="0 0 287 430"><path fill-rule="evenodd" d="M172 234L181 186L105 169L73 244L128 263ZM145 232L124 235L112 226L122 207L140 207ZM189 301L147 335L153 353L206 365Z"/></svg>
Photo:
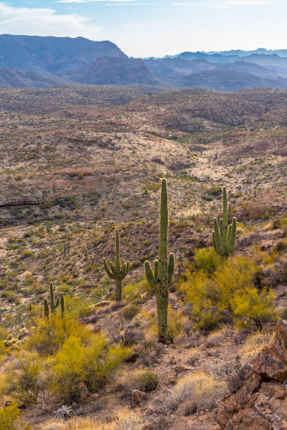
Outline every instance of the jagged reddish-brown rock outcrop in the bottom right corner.
<svg viewBox="0 0 287 430"><path fill-rule="evenodd" d="M219 406L222 429L287 429L287 321L272 343L231 379L231 395Z"/></svg>

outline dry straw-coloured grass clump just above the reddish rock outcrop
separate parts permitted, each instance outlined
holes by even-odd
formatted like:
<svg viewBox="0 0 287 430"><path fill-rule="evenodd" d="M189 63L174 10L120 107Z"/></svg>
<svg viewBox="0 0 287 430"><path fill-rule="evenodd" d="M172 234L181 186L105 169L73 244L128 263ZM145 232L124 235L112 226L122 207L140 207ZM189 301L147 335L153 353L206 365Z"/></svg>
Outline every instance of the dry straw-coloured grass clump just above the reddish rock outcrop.
<svg viewBox="0 0 287 430"><path fill-rule="evenodd" d="M272 332L256 332L251 334L246 340L245 344L238 351L238 355L241 358L241 365L245 365L246 363L250 363L250 361L257 356L264 346L269 345L272 341L273 333Z"/></svg>

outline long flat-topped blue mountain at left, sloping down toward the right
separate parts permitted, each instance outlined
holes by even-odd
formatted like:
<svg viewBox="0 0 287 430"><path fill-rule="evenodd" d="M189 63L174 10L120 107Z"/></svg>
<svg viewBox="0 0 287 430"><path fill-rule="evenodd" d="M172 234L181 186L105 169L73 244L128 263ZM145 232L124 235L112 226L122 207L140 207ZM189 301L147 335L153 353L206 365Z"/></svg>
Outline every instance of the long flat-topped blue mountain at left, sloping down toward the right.
<svg viewBox="0 0 287 430"><path fill-rule="evenodd" d="M75 70L104 56L127 58L110 41L91 41L84 37L0 35L0 66L12 69L42 73Z"/></svg>

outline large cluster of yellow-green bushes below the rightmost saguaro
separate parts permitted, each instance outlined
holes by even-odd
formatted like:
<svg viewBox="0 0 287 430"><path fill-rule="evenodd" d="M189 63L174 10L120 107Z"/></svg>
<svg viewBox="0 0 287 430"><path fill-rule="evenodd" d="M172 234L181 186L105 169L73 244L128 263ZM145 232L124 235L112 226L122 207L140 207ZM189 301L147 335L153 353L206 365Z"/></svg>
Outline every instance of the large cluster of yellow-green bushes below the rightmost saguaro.
<svg viewBox="0 0 287 430"><path fill-rule="evenodd" d="M261 258L262 256L260 256ZM272 290L261 293L255 288L260 266L257 256L230 257L222 261L213 273L201 269L186 271L177 288L191 303L191 319L202 330L212 330L227 313L234 320L253 321L257 327L276 319ZM244 306L243 299L248 300Z"/></svg>

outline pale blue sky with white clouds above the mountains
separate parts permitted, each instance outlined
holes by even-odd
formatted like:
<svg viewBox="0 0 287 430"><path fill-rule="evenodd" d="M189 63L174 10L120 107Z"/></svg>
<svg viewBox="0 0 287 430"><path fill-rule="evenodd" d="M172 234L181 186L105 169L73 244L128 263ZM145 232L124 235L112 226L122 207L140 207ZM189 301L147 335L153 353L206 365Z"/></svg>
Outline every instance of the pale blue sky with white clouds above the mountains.
<svg viewBox="0 0 287 430"><path fill-rule="evenodd" d="M110 40L128 56L287 48L287 0L0 0L0 34Z"/></svg>

